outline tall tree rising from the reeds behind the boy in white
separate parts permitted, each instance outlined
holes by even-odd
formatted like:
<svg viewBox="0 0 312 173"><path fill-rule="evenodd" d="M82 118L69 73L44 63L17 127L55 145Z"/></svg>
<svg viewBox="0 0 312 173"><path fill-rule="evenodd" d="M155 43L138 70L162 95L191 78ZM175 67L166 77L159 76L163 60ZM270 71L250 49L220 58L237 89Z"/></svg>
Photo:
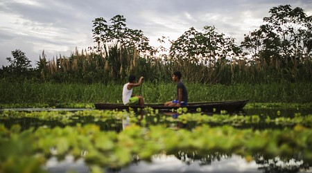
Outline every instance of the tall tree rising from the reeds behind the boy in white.
<svg viewBox="0 0 312 173"><path fill-rule="evenodd" d="M103 17L94 19L92 33L98 44L94 48L105 57L112 78L119 79L130 73L139 53L155 53L155 49L148 44L149 39L142 30L126 26L122 15L116 15L110 21L111 24L107 24Z"/></svg>

